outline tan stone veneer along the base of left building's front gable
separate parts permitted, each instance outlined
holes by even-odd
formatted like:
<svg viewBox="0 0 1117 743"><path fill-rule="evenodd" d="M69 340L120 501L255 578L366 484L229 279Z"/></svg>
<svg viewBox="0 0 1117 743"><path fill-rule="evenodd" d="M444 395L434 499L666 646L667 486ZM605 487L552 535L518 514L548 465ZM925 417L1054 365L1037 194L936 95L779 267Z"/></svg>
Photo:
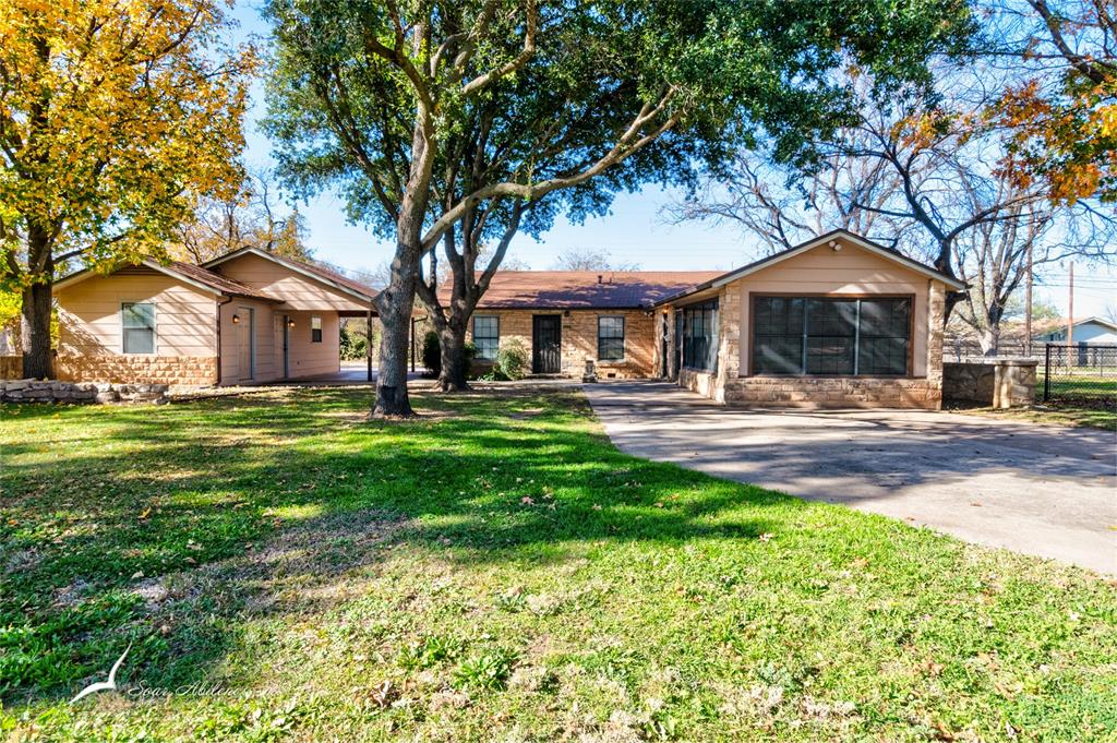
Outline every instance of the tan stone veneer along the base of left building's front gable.
<svg viewBox="0 0 1117 743"><path fill-rule="evenodd" d="M59 355L55 375L83 382L206 387L217 383L217 356Z"/></svg>

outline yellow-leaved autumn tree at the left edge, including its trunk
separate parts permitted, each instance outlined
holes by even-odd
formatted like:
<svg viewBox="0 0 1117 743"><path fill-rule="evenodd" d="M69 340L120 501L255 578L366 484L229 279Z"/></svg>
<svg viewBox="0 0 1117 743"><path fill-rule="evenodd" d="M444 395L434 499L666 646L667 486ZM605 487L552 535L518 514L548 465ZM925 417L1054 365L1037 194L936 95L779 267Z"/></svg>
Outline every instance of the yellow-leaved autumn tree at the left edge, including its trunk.
<svg viewBox="0 0 1117 743"><path fill-rule="evenodd" d="M242 174L250 47L212 0L0 0L0 282L50 372L56 272L160 255Z"/></svg>

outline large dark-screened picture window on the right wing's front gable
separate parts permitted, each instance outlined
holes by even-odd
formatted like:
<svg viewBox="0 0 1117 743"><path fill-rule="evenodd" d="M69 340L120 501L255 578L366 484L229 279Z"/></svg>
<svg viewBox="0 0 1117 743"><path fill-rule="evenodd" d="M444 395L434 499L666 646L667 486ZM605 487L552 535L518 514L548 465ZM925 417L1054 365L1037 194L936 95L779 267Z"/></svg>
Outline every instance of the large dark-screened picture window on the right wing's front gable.
<svg viewBox="0 0 1117 743"><path fill-rule="evenodd" d="M911 299L755 297L757 374L908 373Z"/></svg>

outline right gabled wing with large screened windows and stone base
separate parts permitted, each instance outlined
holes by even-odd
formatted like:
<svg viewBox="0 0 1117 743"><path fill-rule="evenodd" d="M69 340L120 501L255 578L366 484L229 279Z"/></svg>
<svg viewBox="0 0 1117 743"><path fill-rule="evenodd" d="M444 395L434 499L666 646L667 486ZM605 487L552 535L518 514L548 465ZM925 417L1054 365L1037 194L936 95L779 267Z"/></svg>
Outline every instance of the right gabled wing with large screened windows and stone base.
<svg viewBox="0 0 1117 743"><path fill-rule="evenodd" d="M836 230L657 302L657 368L734 404L937 409L963 288Z"/></svg>

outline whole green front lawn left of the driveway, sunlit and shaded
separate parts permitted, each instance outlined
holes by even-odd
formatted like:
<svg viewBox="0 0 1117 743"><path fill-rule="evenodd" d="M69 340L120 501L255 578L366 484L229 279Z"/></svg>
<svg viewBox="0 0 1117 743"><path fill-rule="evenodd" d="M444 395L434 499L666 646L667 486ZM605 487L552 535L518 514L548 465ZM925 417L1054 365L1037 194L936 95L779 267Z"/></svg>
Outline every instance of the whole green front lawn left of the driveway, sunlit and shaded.
<svg viewBox="0 0 1117 743"><path fill-rule="evenodd" d="M369 396L0 408L0 737L1117 737L1111 581Z"/></svg>

